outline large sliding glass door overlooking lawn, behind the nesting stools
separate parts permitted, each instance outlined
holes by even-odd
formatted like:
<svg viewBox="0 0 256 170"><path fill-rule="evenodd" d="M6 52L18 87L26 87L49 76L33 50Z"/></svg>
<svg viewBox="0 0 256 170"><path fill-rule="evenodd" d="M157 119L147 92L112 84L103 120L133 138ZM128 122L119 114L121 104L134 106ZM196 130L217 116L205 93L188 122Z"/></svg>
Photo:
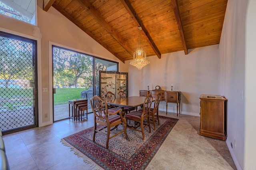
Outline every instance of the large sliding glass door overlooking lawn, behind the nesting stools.
<svg viewBox="0 0 256 170"><path fill-rule="evenodd" d="M96 58L71 49L52 46L53 117L69 118L69 100L88 99L99 94L99 71L117 71L118 63Z"/></svg>

